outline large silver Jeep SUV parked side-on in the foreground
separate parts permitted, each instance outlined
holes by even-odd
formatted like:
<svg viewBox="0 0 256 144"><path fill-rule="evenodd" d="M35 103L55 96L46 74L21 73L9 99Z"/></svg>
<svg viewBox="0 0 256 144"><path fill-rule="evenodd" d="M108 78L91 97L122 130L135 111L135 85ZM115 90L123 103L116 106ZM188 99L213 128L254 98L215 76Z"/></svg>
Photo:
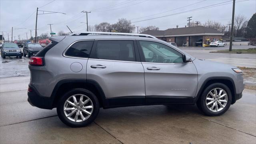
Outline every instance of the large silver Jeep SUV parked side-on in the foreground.
<svg viewBox="0 0 256 144"><path fill-rule="evenodd" d="M242 97L242 71L196 59L146 34L86 32L51 37L30 58L28 102L57 108L72 127L94 121L100 107L197 104L224 114Z"/></svg>

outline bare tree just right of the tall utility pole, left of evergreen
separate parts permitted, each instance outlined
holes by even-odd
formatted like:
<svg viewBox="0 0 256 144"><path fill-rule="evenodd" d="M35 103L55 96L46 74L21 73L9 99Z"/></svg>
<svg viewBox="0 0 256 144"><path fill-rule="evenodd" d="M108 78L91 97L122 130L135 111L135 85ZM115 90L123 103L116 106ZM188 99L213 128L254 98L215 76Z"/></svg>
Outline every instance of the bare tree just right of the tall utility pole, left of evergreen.
<svg viewBox="0 0 256 144"><path fill-rule="evenodd" d="M234 20L234 28L236 30L236 36L243 36L243 31L245 30L247 25L246 17L243 15L235 16ZM255 25L255 23L254 23Z"/></svg>

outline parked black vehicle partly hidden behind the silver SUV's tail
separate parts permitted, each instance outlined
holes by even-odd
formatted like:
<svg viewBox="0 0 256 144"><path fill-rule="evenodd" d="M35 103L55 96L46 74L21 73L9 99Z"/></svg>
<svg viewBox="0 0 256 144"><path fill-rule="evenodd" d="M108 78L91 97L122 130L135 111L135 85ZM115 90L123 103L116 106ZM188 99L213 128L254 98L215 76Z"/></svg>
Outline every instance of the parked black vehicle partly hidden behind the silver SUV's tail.
<svg viewBox="0 0 256 144"><path fill-rule="evenodd" d="M24 44L24 47L23 47L24 57L28 55L28 58L30 58L30 56L33 56L34 54L38 53L42 49L43 47L38 43L26 43Z"/></svg>

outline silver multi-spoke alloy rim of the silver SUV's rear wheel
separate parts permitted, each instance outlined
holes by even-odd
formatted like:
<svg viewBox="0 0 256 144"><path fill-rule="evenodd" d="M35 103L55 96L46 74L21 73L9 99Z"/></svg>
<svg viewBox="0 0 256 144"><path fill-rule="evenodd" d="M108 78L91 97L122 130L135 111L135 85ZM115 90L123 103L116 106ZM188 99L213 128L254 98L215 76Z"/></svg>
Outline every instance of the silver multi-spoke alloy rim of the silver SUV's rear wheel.
<svg viewBox="0 0 256 144"><path fill-rule="evenodd" d="M88 96L75 94L65 101L63 110L69 120L83 122L92 115L93 103Z"/></svg>

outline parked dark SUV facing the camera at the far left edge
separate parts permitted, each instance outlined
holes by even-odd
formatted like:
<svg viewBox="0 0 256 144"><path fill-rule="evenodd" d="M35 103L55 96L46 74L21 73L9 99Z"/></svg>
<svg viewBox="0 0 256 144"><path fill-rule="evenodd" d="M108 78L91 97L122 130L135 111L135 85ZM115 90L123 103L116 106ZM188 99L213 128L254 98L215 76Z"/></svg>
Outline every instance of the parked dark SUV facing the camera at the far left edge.
<svg viewBox="0 0 256 144"><path fill-rule="evenodd" d="M16 56L16 58L22 58L21 50L18 44L5 42L0 48L2 58L6 58L6 56Z"/></svg>

